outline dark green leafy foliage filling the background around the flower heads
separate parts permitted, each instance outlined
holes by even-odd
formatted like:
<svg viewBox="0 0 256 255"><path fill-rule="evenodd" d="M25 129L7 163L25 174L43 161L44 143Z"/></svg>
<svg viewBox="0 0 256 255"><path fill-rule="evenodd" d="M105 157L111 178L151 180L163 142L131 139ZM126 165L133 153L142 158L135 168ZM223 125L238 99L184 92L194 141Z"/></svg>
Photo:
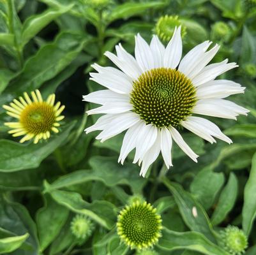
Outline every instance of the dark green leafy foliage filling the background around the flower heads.
<svg viewBox="0 0 256 255"><path fill-rule="evenodd" d="M0 1L0 105L40 89L66 106L61 132L37 145L8 135L0 110L0 254L136 254L116 231L117 215L132 195L162 216L156 254L229 255L219 245L228 225L248 237L256 254L256 7L243 0L3 0ZM149 42L156 22L178 15L186 26L183 54L205 40L221 45L213 61L239 64L222 75L246 87L232 96L248 117L213 119L233 140L215 145L181 131L199 154L193 163L174 145L169 171L160 157L147 179L128 156L118 164L123 135L94 140L84 129L95 122L82 95L100 86L89 81L91 64L110 66L103 53L121 42L133 54L134 36ZM221 26L220 26L221 25ZM226 31L225 35L222 34ZM165 42L166 43L166 42ZM93 222L78 242L75 215Z"/></svg>

